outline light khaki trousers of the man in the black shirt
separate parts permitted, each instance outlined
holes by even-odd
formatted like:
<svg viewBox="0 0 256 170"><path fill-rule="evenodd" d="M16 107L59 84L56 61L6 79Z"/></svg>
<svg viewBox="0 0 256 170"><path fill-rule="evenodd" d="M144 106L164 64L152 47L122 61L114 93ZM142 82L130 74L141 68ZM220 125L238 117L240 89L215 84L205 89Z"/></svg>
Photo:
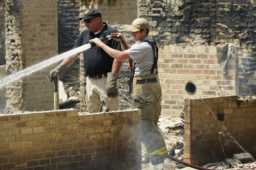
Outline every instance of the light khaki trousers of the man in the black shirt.
<svg viewBox="0 0 256 170"><path fill-rule="evenodd" d="M100 79L86 77L85 101L89 113L97 113L100 110L102 100L105 101L108 109L118 110L119 96L108 97L106 94L106 80L106 77Z"/></svg>

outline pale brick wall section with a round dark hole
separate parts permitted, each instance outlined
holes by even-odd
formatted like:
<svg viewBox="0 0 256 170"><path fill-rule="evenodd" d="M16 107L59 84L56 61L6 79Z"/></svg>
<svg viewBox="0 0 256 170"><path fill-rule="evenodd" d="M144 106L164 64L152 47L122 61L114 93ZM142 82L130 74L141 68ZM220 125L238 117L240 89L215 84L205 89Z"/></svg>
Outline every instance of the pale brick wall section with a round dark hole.
<svg viewBox="0 0 256 170"><path fill-rule="evenodd" d="M227 62L228 72L222 74L216 46L163 46L159 48L158 73L162 86L162 113L177 116L184 100L196 96L237 94L237 59ZM185 89L187 82L195 84L195 92Z"/></svg>

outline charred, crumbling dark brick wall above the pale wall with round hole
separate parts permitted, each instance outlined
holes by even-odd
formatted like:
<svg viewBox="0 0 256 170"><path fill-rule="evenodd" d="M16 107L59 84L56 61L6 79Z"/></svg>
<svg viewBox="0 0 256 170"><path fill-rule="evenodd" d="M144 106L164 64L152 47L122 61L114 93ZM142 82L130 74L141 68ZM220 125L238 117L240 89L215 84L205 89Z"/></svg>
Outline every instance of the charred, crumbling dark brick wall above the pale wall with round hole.
<svg viewBox="0 0 256 170"><path fill-rule="evenodd" d="M239 95L256 94L255 2L248 0L138 0L138 17L150 22L159 45L217 45L243 48L239 58ZM219 48L218 48L219 49ZM251 78L255 76L251 75Z"/></svg>

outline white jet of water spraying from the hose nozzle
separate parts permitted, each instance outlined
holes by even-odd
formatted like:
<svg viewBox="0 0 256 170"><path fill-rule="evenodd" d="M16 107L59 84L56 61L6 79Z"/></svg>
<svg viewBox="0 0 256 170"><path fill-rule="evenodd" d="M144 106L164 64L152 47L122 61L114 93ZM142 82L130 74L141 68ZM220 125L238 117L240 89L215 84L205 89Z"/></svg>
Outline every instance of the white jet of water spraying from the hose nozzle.
<svg viewBox="0 0 256 170"><path fill-rule="evenodd" d="M47 68L50 65L52 65L52 64L54 64L58 61L61 61L66 57L69 57L69 56L72 56L74 54L81 53L85 50L88 50L90 47L91 47L90 44L85 44L85 45L79 46L78 48L71 49L67 52L56 55L56 56L51 57L51 58L49 58L47 60L44 60L42 62L39 62L38 64L31 65L31 66L27 67L26 69L23 69L23 70L20 70L18 72L15 72L13 74L10 74L8 76L5 76L4 78L2 78L0 80L0 89L3 88L5 85L13 82L13 81L19 80L20 78L24 78L24 77L26 77L26 76L34 73L34 72L40 71L44 68ZM50 71L49 71L49 74L50 74Z"/></svg>

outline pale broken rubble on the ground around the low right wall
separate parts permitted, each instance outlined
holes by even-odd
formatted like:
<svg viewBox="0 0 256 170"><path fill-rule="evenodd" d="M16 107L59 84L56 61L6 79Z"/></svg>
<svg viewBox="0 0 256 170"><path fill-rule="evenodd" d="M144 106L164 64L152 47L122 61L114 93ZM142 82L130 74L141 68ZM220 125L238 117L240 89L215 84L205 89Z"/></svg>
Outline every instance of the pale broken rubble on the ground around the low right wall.
<svg viewBox="0 0 256 170"><path fill-rule="evenodd" d="M256 96L249 96L249 98L256 98ZM179 115L180 117L178 118L171 118L168 115L161 115L159 117L158 126L159 129L163 132L168 153L171 156L183 161L183 134L185 133L185 121L183 112L181 112ZM142 154L144 154L143 149L144 147L142 145ZM168 158L164 160L163 164L159 164L156 166L152 165L151 163L142 164L142 170L170 170L171 168L166 168L166 165L174 165L175 169L195 170L191 167L186 167ZM249 153L239 153L234 154L233 158L225 159L223 162L207 163L202 167L209 169L256 169L256 162Z"/></svg>

